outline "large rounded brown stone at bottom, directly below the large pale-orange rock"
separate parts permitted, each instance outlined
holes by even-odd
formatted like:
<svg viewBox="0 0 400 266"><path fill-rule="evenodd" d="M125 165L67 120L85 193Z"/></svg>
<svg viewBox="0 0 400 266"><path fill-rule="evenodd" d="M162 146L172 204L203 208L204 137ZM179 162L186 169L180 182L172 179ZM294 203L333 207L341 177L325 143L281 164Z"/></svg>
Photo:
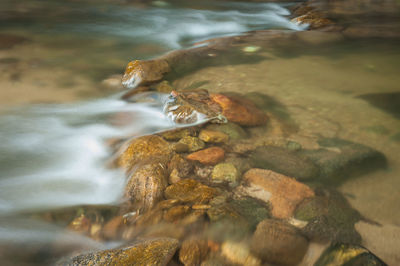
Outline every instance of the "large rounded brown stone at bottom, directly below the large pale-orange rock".
<svg viewBox="0 0 400 266"><path fill-rule="evenodd" d="M260 222L251 239L251 251L258 258L278 265L297 265L307 248L307 239L296 227L273 219Z"/></svg>

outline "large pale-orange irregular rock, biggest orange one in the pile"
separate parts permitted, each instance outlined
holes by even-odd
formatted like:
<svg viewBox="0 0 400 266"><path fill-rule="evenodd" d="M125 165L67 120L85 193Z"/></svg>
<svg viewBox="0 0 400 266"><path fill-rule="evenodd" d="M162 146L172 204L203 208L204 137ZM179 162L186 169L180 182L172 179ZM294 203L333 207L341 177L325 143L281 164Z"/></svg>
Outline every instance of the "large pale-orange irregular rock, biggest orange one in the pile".
<svg viewBox="0 0 400 266"><path fill-rule="evenodd" d="M276 218L289 218L298 204L314 196L314 191L308 186L270 170L250 169L244 174L244 181L247 185L240 187L239 191L269 202Z"/></svg>

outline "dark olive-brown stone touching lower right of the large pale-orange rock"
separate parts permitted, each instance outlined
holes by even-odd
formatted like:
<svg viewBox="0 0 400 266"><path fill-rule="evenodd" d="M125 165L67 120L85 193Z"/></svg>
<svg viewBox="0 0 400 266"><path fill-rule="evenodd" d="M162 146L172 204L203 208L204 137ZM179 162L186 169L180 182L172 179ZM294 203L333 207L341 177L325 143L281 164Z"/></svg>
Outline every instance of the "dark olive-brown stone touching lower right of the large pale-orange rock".
<svg viewBox="0 0 400 266"><path fill-rule="evenodd" d="M359 244L361 236L354 225L362 219L338 191L317 190L317 196L306 199L294 217L307 221L302 232L315 241Z"/></svg>

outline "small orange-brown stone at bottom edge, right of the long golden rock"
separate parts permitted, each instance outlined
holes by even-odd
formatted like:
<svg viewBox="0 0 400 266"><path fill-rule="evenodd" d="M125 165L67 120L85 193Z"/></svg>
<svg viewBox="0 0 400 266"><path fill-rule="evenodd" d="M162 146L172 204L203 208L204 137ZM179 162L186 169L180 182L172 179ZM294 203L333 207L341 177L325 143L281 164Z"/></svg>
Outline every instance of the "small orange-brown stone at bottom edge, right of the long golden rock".
<svg viewBox="0 0 400 266"><path fill-rule="evenodd" d="M179 250L179 260L185 266L200 265L208 252L207 241L189 239L182 243Z"/></svg>

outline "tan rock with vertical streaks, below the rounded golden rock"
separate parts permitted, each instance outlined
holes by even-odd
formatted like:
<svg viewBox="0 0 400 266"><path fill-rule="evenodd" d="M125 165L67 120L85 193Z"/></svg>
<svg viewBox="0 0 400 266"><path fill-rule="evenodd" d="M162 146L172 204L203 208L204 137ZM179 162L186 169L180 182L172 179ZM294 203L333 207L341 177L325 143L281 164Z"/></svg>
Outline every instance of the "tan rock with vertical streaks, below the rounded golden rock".
<svg viewBox="0 0 400 266"><path fill-rule="evenodd" d="M165 166L157 162L138 165L125 187L125 196L137 209L146 211L162 199L167 185Z"/></svg>

